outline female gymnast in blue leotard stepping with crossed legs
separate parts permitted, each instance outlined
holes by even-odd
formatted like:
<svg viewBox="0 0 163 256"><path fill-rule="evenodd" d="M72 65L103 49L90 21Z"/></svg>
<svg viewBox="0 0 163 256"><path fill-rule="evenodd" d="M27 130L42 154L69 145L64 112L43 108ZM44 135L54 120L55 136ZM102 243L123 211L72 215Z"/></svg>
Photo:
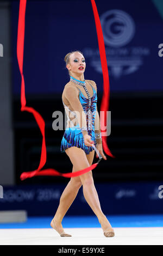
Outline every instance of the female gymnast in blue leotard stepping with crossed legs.
<svg viewBox="0 0 163 256"><path fill-rule="evenodd" d="M70 158L73 165L72 172L77 172L92 165L95 156L92 144L104 160L106 156L103 153L101 126L97 111L97 86L94 81L84 79L86 63L83 53L78 50L67 53L65 62L70 81L65 85L62 93L62 103L67 114L67 127L61 141L61 152L65 152ZM71 236L65 233L61 222L82 185L85 200L97 216L104 236L114 236L114 229L101 209L92 170L70 179L60 197L51 227L60 236Z"/></svg>

